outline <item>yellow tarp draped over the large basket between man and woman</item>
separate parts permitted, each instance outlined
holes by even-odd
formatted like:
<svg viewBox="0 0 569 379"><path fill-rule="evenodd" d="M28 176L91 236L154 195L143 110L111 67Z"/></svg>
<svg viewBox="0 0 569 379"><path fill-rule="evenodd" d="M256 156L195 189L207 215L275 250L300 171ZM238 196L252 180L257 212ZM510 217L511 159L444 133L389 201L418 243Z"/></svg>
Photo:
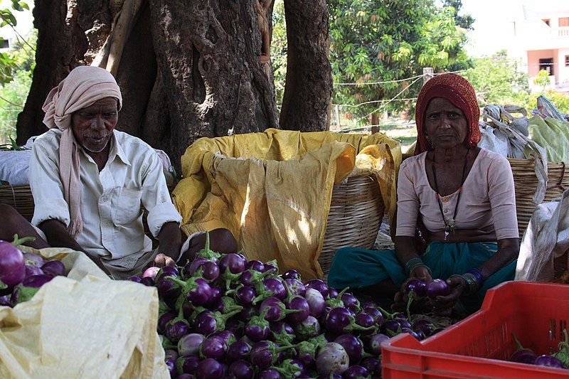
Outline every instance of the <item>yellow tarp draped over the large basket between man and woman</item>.
<svg viewBox="0 0 569 379"><path fill-rule="evenodd" d="M383 134L262 133L198 139L182 156L173 193L182 228L228 228L250 259L276 259L303 279L318 263L334 183L376 174L391 217L401 163L398 142ZM355 169L354 169L355 168Z"/></svg>

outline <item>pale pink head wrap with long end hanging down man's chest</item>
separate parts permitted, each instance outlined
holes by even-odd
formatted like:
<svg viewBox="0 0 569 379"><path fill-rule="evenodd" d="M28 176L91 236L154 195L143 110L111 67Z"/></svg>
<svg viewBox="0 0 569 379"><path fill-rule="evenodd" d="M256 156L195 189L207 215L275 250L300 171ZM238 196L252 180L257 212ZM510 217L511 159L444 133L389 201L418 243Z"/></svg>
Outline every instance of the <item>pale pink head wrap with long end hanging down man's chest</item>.
<svg viewBox="0 0 569 379"><path fill-rule="evenodd" d="M83 218L79 151L71 128L71 114L105 97L117 99L117 108L120 110L122 96L115 78L102 68L79 66L49 92L41 108L46 112L43 123L49 129L57 127L63 130L59 142L59 176L63 184L63 196L69 205L68 232L73 237L83 230Z"/></svg>

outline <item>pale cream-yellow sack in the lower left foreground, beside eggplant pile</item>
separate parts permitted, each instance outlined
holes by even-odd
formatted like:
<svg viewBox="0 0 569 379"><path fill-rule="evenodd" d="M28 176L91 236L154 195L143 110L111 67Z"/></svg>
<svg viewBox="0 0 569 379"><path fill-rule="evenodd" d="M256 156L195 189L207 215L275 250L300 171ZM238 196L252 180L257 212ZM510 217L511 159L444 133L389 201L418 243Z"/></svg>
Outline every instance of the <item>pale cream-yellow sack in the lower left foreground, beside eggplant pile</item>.
<svg viewBox="0 0 569 379"><path fill-rule="evenodd" d="M0 378L169 378L155 288L111 280L73 250L22 250L60 259L69 273L14 309L0 306Z"/></svg>

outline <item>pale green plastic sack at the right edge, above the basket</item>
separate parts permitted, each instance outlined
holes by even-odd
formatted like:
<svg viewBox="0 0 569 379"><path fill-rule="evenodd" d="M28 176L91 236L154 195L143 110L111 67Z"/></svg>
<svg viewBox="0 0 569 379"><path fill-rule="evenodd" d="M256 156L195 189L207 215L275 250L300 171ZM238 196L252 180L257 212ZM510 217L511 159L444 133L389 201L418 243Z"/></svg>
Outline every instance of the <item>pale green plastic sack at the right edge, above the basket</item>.
<svg viewBox="0 0 569 379"><path fill-rule="evenodd" d="M530 138L547 151L550 162L569 162L569 122L533 116L528 121Z"/></svg>

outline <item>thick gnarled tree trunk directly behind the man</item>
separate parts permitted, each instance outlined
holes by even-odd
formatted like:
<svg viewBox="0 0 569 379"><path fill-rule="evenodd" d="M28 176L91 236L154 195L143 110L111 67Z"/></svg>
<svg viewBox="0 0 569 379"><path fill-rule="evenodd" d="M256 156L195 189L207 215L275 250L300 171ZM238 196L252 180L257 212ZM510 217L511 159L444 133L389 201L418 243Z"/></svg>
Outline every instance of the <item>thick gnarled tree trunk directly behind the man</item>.
<svg viewBox="0 0 569 379"><path fill-rule="evenodd" d="M272 73L267 77L257 58L255 1L145 2L119 57L117 129L166 151L179 170L181 155L199 137L277 127ZM101 50L116 13L109 3L36 0L36 69L18 116L19 144L46 131L41 105L49 90Z"/></svg>

